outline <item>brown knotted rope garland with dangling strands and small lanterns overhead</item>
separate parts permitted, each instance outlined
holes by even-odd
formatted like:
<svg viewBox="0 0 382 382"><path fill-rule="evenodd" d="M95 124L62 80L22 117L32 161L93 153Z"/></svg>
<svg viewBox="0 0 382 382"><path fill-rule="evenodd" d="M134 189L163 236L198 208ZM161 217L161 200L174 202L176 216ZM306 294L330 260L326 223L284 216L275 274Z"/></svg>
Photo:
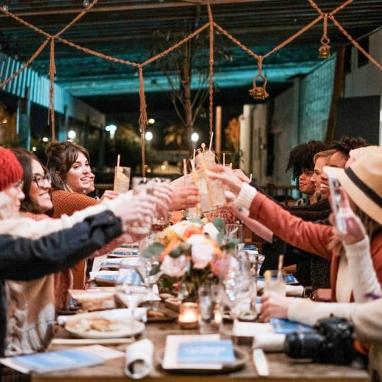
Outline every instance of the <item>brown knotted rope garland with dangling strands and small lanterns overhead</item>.
<svg viewBox="0 0 382 382"><path fill-rule="evenodd" d="M376 59L371 57L371 55L368 52L366 52L358 44L358 42L355 41L353 39L353 37L351 35L349 35L349 33L347 33L347 31L344 28L342 28L342 25L340 25L340 23L335 19L335 13L337 13L339 11L342 11L343 8L345 8L347 5L351 4L354 0L347 0L347 1L345 1L343 4L341 4L340 6L335 8L330 13L323 13L323 11L320 10L320 8L317 6L317 4L313 0L307 0L307 1L308 1L309 4L311 4L312 8L315 9L318 12L319 16L315 20L313 20L311 23L309 23L305 27L301 28L301 30L299 30L297 33L295 33L291 37L287 38L287 40L284 40L284 42L282 42L281 44L277 45L277 47L274 47L270 52L267 52L263 56L259 56L259 55L255 54L255 52L250 50L248 47L245 47L245 45L241 44L241 42L236 40L235 37L231 36L228 32L226 32L226 30L224 30L224 28L221 28L220 25L216 24L213 21L213 18L212 18L212 10L211 10L211 6L209 4L210 1L205 1L205 3L207 4L207 9L208 9L208 13L209 13L209 22L208 23L203 25L201 28L198 28L197 30L195 30L195 32L191 33L190 35L185 37L183 40L180 40L179 42L177 42L172 47L168 48L167 50L164 50L160 54L157 54L155 57L151 57L150 59L147 59L145 62L143 62L141 64L139 64L137 62L130 62L128 60L118 59L116 57L111 57L111 56L105 55L103 53L96 52L94 50L90 50L90 49L88 49L86 47L81 47L80 45L76 45L73 42L65 40L62 37L59 37L60 35L62 35L62 33L64 33L65 30L69 29L71 27L71 25L74 25L74 23L79 21L87 12L91 11L93 6L96 6L96 4L98 3L98 0L93 0L91 2L91 4L89 4L85 9L83 9L83 11L81 11L78 16L76 16L68 25L66 25L62 30L60 30L59 33L57 33L56 35L50 35L49 33L46 33L44 30L40 30L39 28L35 27L35 25L32 25L32 24L24 21L23 19L19 18L18 16L14 15L13 13L9 12L8 8L1 7L0 11L3 12L6 16L13 18L14 20L18 21L19 23L25 25L27 28L35 30L35 32L40 33L41 35L45 35L45 37L47 37L47 40L45 40L45 42L42 43L42 45L37 49L37 51L30 57L30 59L28 59L27 62L25 62L23 64L23 66L21 66L20 69L18 69L18 71L16 71L14 74L12 74L12 76L10 76L8 79L6 79L6 80L4 80L3 82L0 83L0 88L2 88L4 85L6 85L6 83L9 83L10 81L12 81L25 68L30 66L30 64L32 64L32 62L36 59L36 57L40 54L40 52L42 52L42 50L45 48L47 43L50 42L51 57L50 57L49 74L50 74L50 81L51 81L51 85L50 85L51 86L51 88L50 88L51 91L50 91L50 103L49 103L50 110L49 110L49 115L50 115L50 122L51 122L51 125L52 125L52 140L54 140L55 139L55 132L54 132L54 89L53 89L53 86L54 86L53 85L53 83L54 83L54 74L55 74L54 40L62 42L62 43L66 44L66 45L69 45L71 47L74 47L76 50L81 50L82 52L85 52L86 54L92 54L92 55L94 55L96 57L100 57L102 59L107 59L109 61L116 62L118 64L125 64L125 65L135 66L139 70L139 99L140 99L139 128L140 128L140 132L141 132L141 139L142 139L142 137L144 139L144 132L145 132L146 123L147 123L146 99L145 99L145 96L144 96L144 76L143 76L143 68L144 68L144 66L146 66L148 64L151 64L151 62L154 62L157 59L160 59L161 57L165 56L169 52L172 52L173 50L177 49L178 47L180 47L180 45L183 45L185 42L187 42L191 38L195 37L199 33L202 33L202 31L204 29L209 28L209 35L210 35L210 54L209 54L209 132L210 132L210 136L211 136L211 134L212 134L212 115L213 115L213 74L214 74L214 71L213 71L213 66L214 66L214 50L213 50L214 39L213 39L213 35L214 35L214 28L216 28L216 30L219 30L223 35L228 37L228 39L231 40L234 44L236 44L239 47L241 47L241 49L243 49L245 52L250 54L250 56L254 57L257 60L258 74L253 79L254 87L253 87L253 89L250 90L250 93L251 94L253 93L253 96L255 96L257 93L258 93L259 97L260 97L260 95L262 97L265 97L265 98L267 98L269 96L267 91L266 91L266 88L265 88L265 86L267 84L267 79L262 74L262 62L263 62L263 60L266 59L267 57L269 57L274 52L277 52L278 50L281 50L282 47L284 47L285 45L289 44L289 42L293 41L296 37L298 37L302 33L305 33L306 30L310 29L313 25L318 23L318 21L320 21L321 19L323 19L324 33L323 33L323 37L320 40L321 47L319 49L319 53L320 53L321 48L325 47L325 49L323 49L325 51L325 54L329 54L330 55L330 46L329 46L330 40L329 40L328 35L327 35L328 19L330 19L332 21L332 23L334 23L334 25L341 31L341 33L343 35L345 35L345 37L347 37L347 39L350 42L352 42L352 45L354 45L354 47L356 47L362 54L364 54L364 56L367 57L367 59L369 59L369 61L372 64L377 66L378 69L382 70L382 65L379 64L376 61ZM323 55L325 55L325 54L323 54ZM262 80L262 86L257 86L257 82L256 81L258 79ZM262 98L262 99L264 99L264 98ZM143 136L142 136L142 134L143 134ZM143 166L146 166L145 165L145 158L144 158L144 140L143 140L143 144L142 144L142 163L143 163Z"/></svg>

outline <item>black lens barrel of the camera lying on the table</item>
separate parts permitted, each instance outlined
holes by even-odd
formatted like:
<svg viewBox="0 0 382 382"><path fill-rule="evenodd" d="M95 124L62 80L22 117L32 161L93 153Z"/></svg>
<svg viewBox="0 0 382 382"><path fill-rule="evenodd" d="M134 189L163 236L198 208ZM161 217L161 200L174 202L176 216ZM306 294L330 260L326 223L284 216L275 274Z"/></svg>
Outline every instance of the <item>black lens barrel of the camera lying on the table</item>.
<svg viewBox="0 0 382 382"><path fill-rule="evenodd" d="M292 358L318 359L324 342L325 338L317 332L293 332L285 337L284 352Z"/></svg>

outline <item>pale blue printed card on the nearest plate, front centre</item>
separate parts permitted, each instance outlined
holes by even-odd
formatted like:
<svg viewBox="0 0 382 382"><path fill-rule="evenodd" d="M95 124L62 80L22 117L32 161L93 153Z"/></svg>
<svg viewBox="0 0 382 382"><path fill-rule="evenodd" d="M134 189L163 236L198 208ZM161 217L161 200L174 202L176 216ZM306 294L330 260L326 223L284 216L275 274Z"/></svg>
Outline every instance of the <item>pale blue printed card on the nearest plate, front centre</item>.
<svg viewBox="0 0 382 382"><path fill-rule="evenodd" d="M220 363L232 364L235 361L231 340L181 342L178 346L180 363Z"/></svg>

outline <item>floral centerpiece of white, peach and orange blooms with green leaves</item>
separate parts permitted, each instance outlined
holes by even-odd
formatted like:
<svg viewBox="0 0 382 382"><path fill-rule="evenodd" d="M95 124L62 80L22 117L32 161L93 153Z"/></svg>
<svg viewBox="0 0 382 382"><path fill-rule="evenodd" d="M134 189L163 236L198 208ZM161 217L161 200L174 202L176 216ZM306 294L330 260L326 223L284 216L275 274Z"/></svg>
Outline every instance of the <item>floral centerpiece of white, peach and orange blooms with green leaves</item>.
<svg viewBox="0 0 382 382"><path fill-rule="evenodd" d="M204 282L219 278L221 258L236 248L237 240L224 236L224 221L203 224L201 219L179 221L157 234L143 257L158 257L151 274L161 272L161 286L177 292L180 299L195 300Z"/></svg>

